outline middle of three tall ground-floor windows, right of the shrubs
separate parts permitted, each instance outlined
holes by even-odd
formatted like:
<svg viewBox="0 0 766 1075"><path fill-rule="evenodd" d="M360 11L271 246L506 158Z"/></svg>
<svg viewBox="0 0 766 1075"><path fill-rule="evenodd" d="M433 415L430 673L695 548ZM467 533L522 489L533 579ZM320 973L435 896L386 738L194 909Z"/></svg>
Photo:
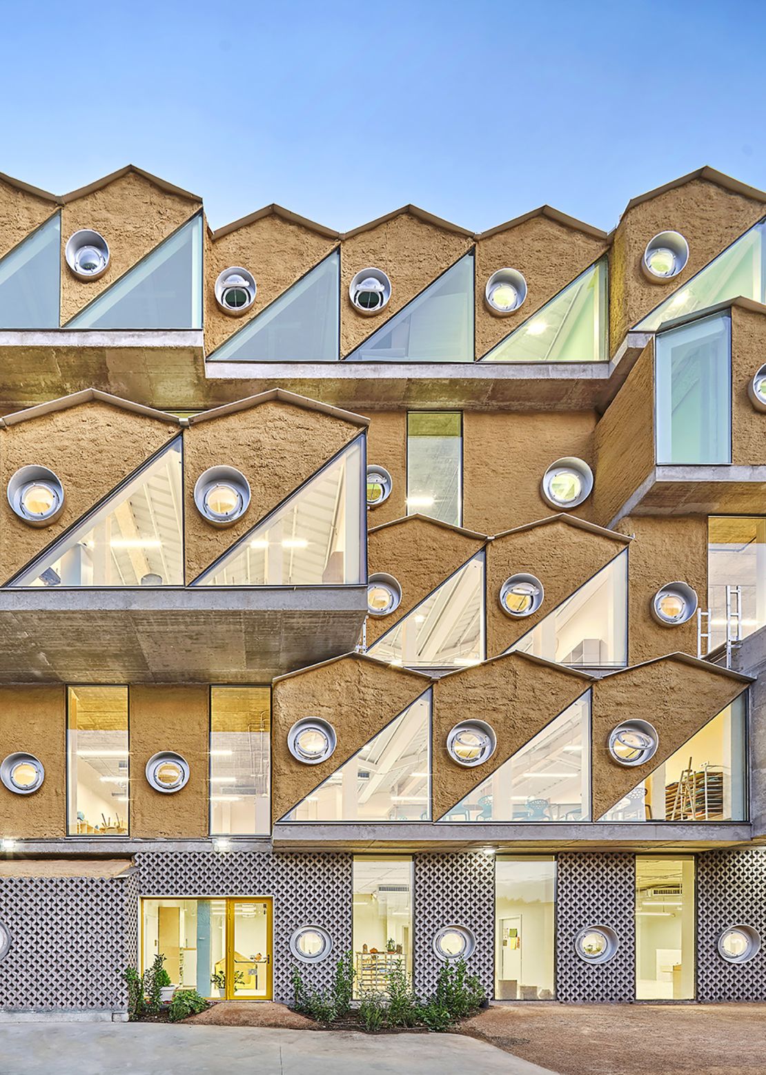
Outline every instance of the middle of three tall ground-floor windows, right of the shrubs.
<svg viewBox="0 0 766 1075"><path fill-rule="evenodd" d="M555 859L495 859L495 999L550 1001L555 992Z"/></svg>

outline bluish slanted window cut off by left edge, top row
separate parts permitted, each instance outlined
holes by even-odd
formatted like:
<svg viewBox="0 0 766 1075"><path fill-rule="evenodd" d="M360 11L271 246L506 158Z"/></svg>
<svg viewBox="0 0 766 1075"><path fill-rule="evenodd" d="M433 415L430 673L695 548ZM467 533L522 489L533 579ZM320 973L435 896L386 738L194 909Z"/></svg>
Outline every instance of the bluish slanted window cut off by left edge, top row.
<svg viewBox="0 0 766 1075"><path fill-rule="evenodd" d="M56 213L0 261L0 329L57 329L61 214Z"/></svg>

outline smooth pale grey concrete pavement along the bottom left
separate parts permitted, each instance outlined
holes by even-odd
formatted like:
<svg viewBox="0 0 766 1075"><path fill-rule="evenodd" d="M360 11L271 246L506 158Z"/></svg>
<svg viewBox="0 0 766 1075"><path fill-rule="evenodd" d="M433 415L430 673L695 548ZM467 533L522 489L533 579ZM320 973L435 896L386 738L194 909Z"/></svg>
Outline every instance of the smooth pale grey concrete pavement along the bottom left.
<svg viewBox="0 0 766 1075"><path fill-rule="evenodd" d="M0 1072L24 1075L555 1075L459 1034L367 1034L167 1023L8 1023Z"/></svg>

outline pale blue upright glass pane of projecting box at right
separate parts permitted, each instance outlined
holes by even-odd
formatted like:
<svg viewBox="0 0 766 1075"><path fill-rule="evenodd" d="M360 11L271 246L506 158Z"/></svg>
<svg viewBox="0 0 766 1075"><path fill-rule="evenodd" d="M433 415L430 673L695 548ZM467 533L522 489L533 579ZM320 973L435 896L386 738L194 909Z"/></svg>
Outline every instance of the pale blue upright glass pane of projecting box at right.
<svg viewBox="0 0 766 1075"><path fill-rule="evenodd" d="M731 462L731 345L727 314L656 338L657 463Z"/></svg>

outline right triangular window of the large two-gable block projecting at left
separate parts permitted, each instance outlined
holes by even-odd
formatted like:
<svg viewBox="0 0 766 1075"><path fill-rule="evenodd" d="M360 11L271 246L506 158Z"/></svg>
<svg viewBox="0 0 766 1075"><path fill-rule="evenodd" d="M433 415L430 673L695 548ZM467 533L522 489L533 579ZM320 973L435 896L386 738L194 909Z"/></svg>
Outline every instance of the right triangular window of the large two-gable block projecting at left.
<svg viewBox="0 0 766 1075"><path fill-rule="evenodd" d="M364 582L364 438L344 448L245 534L193 586L348 586Z"/></svg>

